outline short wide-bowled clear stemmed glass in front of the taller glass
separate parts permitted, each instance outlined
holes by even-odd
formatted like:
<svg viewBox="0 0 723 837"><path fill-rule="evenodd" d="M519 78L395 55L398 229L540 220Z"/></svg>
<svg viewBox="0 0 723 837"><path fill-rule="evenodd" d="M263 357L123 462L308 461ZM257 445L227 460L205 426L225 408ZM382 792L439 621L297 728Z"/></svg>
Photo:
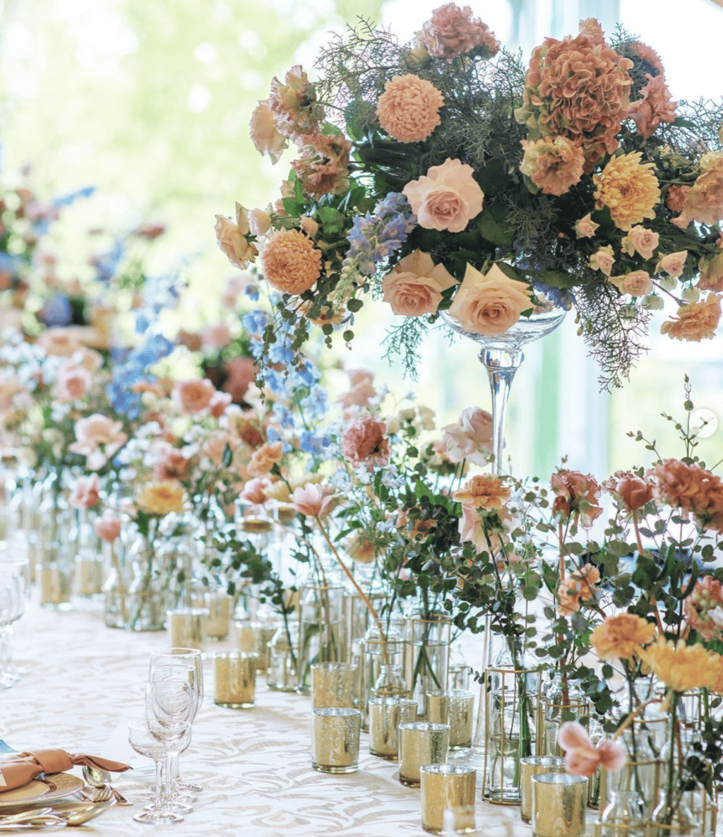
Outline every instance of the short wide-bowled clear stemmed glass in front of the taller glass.
<svg viewBox="0 0 723 837"><path fill-rule="evenodd" d="M191 725L185 721L177 727L163 727L148 718L137 718L128 724L128 741L131 747L141 756L152 758L156 763L156 793L153 804L136 814L133 819L137 823L151 823L164 825L180 823L182 815L172 809L169 776L164 774L163 765L168 762L172 752L177 752L182 746L184 737L190 739ZM164 776L166 782L164 784Z"/></svg>

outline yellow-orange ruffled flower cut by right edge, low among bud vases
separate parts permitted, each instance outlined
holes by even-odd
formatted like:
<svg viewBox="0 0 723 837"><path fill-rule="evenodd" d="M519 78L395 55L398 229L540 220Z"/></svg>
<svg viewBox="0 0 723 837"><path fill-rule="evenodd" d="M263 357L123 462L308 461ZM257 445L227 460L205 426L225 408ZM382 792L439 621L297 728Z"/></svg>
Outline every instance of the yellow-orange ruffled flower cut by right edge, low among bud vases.
<svg viewBox="0 0 723 837"><path fill-rule="evenodd" d="M648 648L638 652L654 675L673 691L710 689L720 680L723 660L701 644L686 645L659 636Z"/></svg>

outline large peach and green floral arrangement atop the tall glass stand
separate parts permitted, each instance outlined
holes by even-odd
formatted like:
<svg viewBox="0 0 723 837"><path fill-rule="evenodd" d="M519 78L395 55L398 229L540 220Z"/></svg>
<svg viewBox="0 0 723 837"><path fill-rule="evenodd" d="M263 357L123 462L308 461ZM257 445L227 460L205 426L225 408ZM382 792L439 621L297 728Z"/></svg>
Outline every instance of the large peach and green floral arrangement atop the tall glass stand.
<svg viewBox="0 0 723 837"><path fill-rule="evenodd" d="M310 323L351 341L369 295L401 318L388 349L412 372L445 309L495 336L575 306L603 386L628 374L667 298L661 331L713 336L723 109L671 100L647 44L588 19L525 65L447 3L408 44L362 21L316 69L274 78L251 121L273 162L298 149L279 200L217 216L231 263L273 290L267 350L282 325L295 348Z"/></svg>

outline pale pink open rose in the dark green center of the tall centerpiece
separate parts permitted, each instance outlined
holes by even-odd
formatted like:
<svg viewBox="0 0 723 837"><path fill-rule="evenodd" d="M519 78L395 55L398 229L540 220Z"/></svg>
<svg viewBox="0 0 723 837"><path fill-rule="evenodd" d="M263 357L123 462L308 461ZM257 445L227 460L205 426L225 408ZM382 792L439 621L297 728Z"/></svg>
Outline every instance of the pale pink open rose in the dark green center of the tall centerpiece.
<svg viewBox="0 0 723 837"><path fill-rule="evenodd" d="M485 193L473 177L474 169L449 157L441 166L403 188L420 227L461 233L470 218L482 212Z"/></svg>

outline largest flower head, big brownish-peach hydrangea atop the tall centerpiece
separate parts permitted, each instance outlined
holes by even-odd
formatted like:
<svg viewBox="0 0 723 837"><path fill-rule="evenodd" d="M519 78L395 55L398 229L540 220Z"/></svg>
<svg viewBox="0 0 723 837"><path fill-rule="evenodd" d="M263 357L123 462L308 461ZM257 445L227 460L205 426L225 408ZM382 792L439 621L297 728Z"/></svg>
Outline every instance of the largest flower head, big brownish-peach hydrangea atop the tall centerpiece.
<svg viewBox="0 0 723 837"><path fill-rule="evenodd" d="M593 43L586 35L545 39L532 52L515 119L528 136L567 136L582 148L584 171L618 147L621 121L628 113L629 59Z"/></svg>

